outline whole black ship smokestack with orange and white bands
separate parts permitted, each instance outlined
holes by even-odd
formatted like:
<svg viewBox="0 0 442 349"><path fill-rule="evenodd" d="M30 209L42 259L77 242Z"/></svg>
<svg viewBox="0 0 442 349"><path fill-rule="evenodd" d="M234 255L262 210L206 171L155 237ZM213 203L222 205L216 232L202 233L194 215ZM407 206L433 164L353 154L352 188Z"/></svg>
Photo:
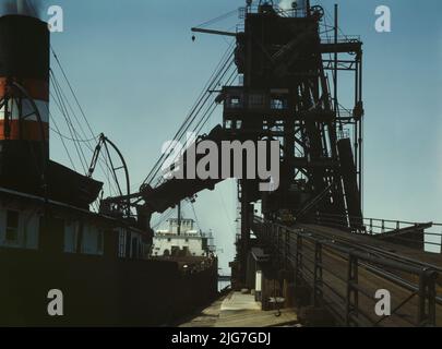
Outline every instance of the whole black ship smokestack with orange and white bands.
<svg viewBox="0 0 442 349"><path fill-rule="evenodd" d="M27 13L25 1L15 5L17 11ZM49 157L49 40L47 23L36 17L0 17L2 185L41 185Z"/></svg>

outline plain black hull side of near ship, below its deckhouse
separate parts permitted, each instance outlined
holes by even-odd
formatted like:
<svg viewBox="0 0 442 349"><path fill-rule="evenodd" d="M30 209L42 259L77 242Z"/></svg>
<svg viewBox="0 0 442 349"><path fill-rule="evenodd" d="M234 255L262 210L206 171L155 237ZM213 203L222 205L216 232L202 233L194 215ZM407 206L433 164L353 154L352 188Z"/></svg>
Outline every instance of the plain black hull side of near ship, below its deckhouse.
<svg viewBox="0 0 442 349"><path fill-rule="evenodd" d="M0 250L0 326L163 326L216 296L217 270L182 275L174 262L51 257ZM48 290L63 292L49 316Z"/></svg>

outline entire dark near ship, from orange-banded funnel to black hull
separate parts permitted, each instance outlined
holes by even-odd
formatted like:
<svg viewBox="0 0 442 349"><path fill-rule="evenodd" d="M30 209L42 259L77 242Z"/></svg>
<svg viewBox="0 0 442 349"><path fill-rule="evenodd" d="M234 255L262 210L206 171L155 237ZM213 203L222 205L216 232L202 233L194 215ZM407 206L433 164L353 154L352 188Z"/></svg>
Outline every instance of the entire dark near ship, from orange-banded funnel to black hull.
<svg viewBox="0 0 442 349"><path fill-rule="evenodd" d="M150 260L146 225L89 210L103 183L49 160L48 103L47 24L0 17L0 325L159 326L213 299L215 257Z"/></svg>

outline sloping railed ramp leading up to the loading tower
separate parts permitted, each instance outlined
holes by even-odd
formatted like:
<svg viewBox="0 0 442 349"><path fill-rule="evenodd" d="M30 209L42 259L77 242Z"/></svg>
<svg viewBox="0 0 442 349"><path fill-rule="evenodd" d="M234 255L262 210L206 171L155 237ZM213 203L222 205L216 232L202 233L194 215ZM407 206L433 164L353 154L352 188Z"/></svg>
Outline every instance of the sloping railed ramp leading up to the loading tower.
<svg viewBox="0 0 442 349"><path fill-rule="evenodd" d="M296 286L311 289L312 303L328 309L342 325L442 325L437 266L259 217L252 230L282 268L294 270ZM390 315L380 302L391 304Z"/></svg>

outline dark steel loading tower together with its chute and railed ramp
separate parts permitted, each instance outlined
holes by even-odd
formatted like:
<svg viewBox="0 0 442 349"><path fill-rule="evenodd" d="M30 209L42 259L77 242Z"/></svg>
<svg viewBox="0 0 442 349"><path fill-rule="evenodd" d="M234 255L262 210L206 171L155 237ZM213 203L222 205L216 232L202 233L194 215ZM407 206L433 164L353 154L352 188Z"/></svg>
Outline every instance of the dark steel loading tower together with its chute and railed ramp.
<svg viewBox="0 0 442 349"><path fill-rule="evenodd" d="M238 181L241 224L231 264L234 288L254 287L250 258L252 249L262 249L268 256L261 261L264 278L295 285L296 293L304 292L312 306L327 308L343 325L407 325L401 308L415 316L408 325L438 325L440 255L422 250L428 237L440 238L440 231L427 232L432 224L404 227L397 221L387 228L392 222L380 220L374 233L377 221L362 215L362 43L339 34L337 5L334 10L331 24L326 11L308 0L287 11L272 1L248 1L240 12L244 25L235 33L192 28L236 38L231 56L242 83L211 85L207 94L216 93L215 103L224 107L223 123L191 148L203 141L279 144L276 191L261 192L259 180ZM339 98L343 74L353 88ZM184 179L156 186L151 181L138 193L106 198L104 206L129 202L139 220L148 221L153 213L213 190L222 179L186 179L189 151L180 163ZM262 217L255 217L256 203ZM440 242L434 246L440 249ZM392 287L404 298L394 317L373 316L373 285Z"/></svg>

